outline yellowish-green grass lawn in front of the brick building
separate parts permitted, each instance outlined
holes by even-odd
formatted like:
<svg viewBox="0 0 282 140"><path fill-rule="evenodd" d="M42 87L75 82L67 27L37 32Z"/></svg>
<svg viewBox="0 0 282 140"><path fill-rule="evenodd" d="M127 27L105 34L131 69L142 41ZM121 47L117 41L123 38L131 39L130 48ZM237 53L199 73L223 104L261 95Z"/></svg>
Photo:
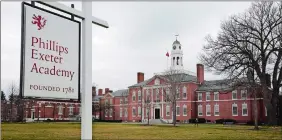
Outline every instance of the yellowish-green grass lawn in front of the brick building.
<svg viewBox="0 0 282 140"><path fill-rule="evenodd" d="M93 139L282 139L282 128L192 124L141 126L138 124L94 123ZM1 125L2 139L80 139L79 123L26 123Z"/></svg>

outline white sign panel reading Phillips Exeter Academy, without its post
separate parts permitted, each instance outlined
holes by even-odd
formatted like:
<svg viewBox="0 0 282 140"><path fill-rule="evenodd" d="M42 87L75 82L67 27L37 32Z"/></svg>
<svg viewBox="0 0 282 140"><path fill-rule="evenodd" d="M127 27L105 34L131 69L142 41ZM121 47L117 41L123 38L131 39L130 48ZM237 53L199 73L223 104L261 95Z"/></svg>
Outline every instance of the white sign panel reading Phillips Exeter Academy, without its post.
<svg viewBox="0 0 282 140"><path fill-rule="evenodd" d="M23 96L78 99L80 23L24 6Z"/></svg>

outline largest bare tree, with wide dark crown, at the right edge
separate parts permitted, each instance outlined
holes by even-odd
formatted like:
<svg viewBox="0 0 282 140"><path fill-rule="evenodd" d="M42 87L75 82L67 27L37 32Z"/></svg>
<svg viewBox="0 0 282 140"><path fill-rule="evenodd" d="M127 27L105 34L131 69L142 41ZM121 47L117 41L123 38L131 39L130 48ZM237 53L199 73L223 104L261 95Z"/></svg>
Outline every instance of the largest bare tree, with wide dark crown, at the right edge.
<svg viewBox="0 0 282 140"><path fill-rule="evenodd" d="M276 111L279 87L282 86L282 3L254 2L250 9L230 17L221 25L217 39L207 36L201 60L217 74L228 79L242 77L253 68L263 91L268 123L277 124ZM272 91L266 85L267 73L272 75Z"/></svg>

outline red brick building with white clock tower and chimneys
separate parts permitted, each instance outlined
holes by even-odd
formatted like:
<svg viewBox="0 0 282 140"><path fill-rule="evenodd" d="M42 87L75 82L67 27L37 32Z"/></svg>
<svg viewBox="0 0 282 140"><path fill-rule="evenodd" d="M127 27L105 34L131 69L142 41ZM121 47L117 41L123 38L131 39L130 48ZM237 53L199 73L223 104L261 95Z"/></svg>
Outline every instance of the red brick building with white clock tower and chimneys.
<svg viewBox="0 0 282 140"><path fill-rule="evenodd" d="M183 52L178 40L174 41L171 50L171 68L183 68ZM185 74L182 89L178 89L176 120L187 121L190 118L234 119L246 123L253 121L254 98L244 87L230 90L225 80L204 80L204 66L196 65L197 74ZM129 122L146 122L159 119L172 122L172 105L166 102L164 91L167 81L162 75L155 75L145 80L144 73L137 73L137 83L127 89L106 92L100 98L101 119L123 120ZM100 89L101 90L101 89ZM169 91L167 91L169 92ZM151 104L146 104L150 97ZM262 98L258 98L258 119L266 120L266 108Z"/></svg>

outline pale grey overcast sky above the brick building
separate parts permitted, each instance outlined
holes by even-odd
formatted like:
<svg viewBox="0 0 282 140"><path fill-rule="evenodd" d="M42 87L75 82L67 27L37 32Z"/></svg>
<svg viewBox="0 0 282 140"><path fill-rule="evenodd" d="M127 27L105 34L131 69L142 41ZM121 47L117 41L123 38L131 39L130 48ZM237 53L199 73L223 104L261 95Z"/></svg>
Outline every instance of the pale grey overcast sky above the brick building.
<svg viewBox="0 0 282 140"><path fill-rule="evenodd" d="M75 4L81 10L81 2ZM220 23L242 13L250 2L92 2L93 16L106 20L110 28L93 25L92 81L98 88L124 89L167 67L166 52L175 34L182 44L186 70L196 72L205 36L215 36ZM21 3L1 4L1 86L19 83ZM170 62L170 61L169 61ZM205 73L205 80L221 76Z"/></svg>

